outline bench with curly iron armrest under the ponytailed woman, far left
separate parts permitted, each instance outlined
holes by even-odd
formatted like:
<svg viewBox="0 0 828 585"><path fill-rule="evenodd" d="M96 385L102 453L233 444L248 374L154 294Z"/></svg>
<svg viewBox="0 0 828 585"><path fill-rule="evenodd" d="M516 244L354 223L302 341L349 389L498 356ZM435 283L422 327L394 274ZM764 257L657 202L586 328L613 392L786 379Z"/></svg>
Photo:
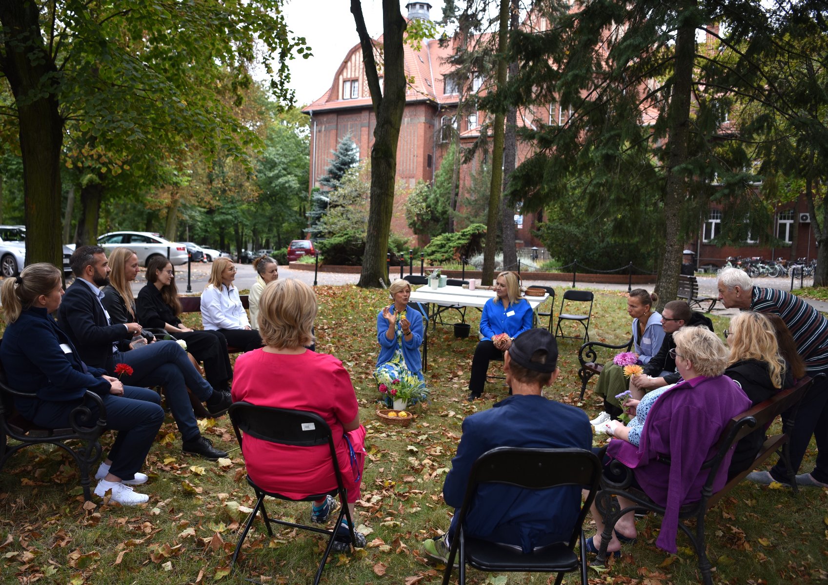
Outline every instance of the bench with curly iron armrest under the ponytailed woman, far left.
<svg viewBox="0 0 828 585"><path fill-rule="evenodd" d="M69 417L70 427L65 429L44 429L24 419L14 406L14 398L31 398L30 392L8 386L5 372L0 368L0 469L14 453L24 447L39 444L53 444L69 453L78 465L80 486L84 499L92 499L89 489L89 472L103 452L100 436L106 428L106 409L101 397L86 391L85 403L75 407ZM89 407L97 406L96 420L86 420ZM7 437L17 444L7 444ZM73 445L79 442L77 445Z"/></svg>

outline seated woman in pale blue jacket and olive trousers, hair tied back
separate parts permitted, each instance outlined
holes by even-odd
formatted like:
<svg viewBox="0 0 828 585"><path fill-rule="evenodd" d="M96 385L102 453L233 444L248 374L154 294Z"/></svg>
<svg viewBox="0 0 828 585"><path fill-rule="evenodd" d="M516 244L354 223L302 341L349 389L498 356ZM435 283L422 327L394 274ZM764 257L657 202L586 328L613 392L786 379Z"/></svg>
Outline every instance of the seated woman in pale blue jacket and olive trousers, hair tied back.
<svg viewBox="0 0 828 585"><path fill-rule="evenodd" d="M652 305L657 302L658 295L644 289L633 289L628 295L627 314L633 318L633 352L638 353L639 366L647 366L652 361L664 340L662 315L652 310ZM609 420L618 419L622 410L621 401L616 396L627 389L628 383L622 368L609 360L604 364L604 370L598 376L593 391L595 396L604 399L604 412L590 420L590 424L599 427Z"/></svg>

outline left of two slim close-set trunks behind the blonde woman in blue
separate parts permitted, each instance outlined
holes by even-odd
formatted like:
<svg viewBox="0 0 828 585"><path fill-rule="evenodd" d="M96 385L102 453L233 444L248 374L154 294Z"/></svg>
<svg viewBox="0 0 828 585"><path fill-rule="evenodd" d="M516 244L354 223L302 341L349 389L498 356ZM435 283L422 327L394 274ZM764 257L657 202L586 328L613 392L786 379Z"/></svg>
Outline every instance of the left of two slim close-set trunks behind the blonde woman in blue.
<svg viewBox="0 0 828 585"><path fill-rule="evenodd" d="M506 43L508 36L509 0L500 0L500 30L498 31L498 90L506 87ZM503 140L505 116L494 114L492 137L492 183L489 189L489 216L486 218L486 247L483 252L482 282L488 284L494 276L494 256L497 253L498 219L500 216L500 191L503 189ZM514 246L514 237L512 239Z"/></svg>

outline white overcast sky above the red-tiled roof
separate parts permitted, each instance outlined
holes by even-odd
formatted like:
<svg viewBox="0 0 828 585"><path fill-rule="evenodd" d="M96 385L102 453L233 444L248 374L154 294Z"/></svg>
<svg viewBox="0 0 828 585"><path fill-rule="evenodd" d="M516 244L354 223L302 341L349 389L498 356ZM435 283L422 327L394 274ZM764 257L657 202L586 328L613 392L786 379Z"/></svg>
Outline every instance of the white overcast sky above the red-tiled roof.
<svg viewBox="0 0 828 585"><path fill-rule="evenodd" d="M443 16L443 0L431 0L431 20ZM407 15L401 0L402 16ZM368 34L377 38L383 33L382 0L362 0ZM288 0L285 8L287 26L297 36L304 36L313 52L309 59L290 61L291 88L296 90L296 104L301 106L319 98L330 88L334 73L348 50L359 42L349 0Z"/></svg>

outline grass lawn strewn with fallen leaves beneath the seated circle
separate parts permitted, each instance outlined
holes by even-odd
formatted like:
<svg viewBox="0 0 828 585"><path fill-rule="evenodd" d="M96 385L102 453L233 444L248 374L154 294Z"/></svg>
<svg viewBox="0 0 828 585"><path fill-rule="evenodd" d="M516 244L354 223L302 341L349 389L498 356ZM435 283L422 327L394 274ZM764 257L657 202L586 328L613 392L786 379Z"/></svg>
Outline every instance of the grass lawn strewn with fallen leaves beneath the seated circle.
<svg viewBox="0 0 828 585"><path fill-rule="evenodd" d="M423 559L421 542L442 534L451 511L442 501L442 484L460 440L465 416L489 408L506 396L503 381L489 384L485 400L466 404L474 339L455 339L450 327L430 335L431 404L416 407L408 428L378 420L378 397L371 377L376 361L375 319L388 293L354 286L317 287L320 314L317 351L339 357L349 370L368 430L368 460L363 497L357 506L368 548L333 555L322 583L440 583L441 567ZM561 295L562 290L558 291ZM591 338L622 343L629 335L626 295L595 291ZM473 331L479 313L467 313ZM190 326L200 317L189 315ZM452 319L451 315L449 319ZM714 318L717 332L726 327ZM587 391L578 401L579 343L560 344L561 376L546 396L583 406L590 418L599 401ZM611 354L608 352L606 358ZM493 364L492 371L499 364ZM590 382L590 388L594 382ZM273 382L274 391L278 381ZM84 507L77 470L59 449L29 448L0 472L0 571L2 583L243 583L228 574L239 525L253 506L244 480L244 463L229 420L202 421L205 434L230 452L211 463L185 457L176 425L168 417L147 458L150 476L139 491L151 494L142 506ZM550 421L550 425L554 425ZM598 440L598 439L596 439ZM105 438L108 444L110 437ZM812 468L811 444L803 470ZM269 501L272 515L309 520L308 504ZM588 516L587 522L590 522ZM639 519L638 544L597 572L590 583L697 583L696 556L680 535L679 554L657 549L660 520ZM707 515L707 545L717 583L805 583L828 580L828 490L806 489L792 497L742 482ZM243 573L266 583L310 583L323 541L310 533L282 530L267 538L261 520L253 525L243 550ZM587 535L594 528L586 526ZM456 573L455 573L456 575ZM469 570L468 583L554 583L547 575ZM577 583L576 573L565 583Z"/></svg>

